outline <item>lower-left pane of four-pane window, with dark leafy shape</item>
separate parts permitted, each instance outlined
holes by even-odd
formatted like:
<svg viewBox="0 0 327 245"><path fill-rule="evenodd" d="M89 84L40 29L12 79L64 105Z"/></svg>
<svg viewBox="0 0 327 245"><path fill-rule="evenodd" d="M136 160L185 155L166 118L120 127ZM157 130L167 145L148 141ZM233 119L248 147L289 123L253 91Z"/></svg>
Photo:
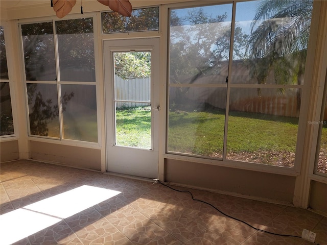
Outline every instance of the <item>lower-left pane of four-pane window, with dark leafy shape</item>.
<svg viewBox="0 0 327 245"><path fill-rule="evenodd" d="M27 84L31 135L60 137L56 84Z"/></svg>

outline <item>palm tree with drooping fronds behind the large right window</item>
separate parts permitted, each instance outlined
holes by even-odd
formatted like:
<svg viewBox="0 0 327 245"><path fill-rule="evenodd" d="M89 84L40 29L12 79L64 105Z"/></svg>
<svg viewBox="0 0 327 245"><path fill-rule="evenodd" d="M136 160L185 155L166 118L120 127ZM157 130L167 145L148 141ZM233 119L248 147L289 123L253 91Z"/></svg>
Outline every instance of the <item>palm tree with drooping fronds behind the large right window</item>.
<svg viewBox="0 0 327 245"><path fill-rule="evenodd" d="M276 84L302 84L312 7L312 0L264 0L260 3L246 48L251 78L265 84L273 70ZM297 114L300 101L298 90Z"/></svg>

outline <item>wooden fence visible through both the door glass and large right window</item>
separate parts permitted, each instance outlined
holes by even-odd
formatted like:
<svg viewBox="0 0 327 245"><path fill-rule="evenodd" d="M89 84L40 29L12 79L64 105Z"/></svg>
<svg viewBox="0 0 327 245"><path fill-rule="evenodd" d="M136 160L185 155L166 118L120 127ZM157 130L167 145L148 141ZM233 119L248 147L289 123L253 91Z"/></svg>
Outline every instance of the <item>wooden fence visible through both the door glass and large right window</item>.
<svg viewBox="0 0 327 245"><path fill-rule="evenodd" d="M151 101L150 78L125 80L115 76L116 106L137 107L150 106ZM174 100L174 93L170 94L170 100ZM226 90L221 88L193 87L181 96L196 101L196 104L206 103L217 108L224 109L226 106ZM279 116L298 116L298 98L296 90L288 91L287 94L277 93L275 89L263 89L262 95L258 95L256 89L231 90L229 109L235 111L263 113Z"/></svg>

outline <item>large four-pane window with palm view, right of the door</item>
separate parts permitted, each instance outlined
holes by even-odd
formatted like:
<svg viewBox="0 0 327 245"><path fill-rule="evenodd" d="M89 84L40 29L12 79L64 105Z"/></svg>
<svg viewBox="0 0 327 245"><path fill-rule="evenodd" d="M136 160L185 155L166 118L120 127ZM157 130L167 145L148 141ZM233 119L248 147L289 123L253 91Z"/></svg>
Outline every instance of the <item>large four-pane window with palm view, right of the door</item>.
<svg viewBox="0 0 327 245"><path fill-rule="evenodd" d="M167 151L294 167L313 1L235 5L170 10Z"/></svg>

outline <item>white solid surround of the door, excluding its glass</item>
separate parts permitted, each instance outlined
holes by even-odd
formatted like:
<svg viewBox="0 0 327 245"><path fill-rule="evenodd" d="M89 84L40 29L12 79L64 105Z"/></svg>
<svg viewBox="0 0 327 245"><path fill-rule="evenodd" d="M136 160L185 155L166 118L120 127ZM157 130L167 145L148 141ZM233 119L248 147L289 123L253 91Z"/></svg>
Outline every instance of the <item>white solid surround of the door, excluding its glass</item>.
<svg viewBox="0 0 327 245"><path fill-rule="evenodd" d="M151 149L115 145L113 52L151 51ZM159 38L103 40L106 171L144 178L158 177ZM108 65L110 66L108 68ZM124 157L124 159L122 158ZM133 164L129 164L133 162ZM152 164L153 165L152 165ZM134 165L135 164L135 165ZM137 164L139 164L137 166Z"/></svg>

